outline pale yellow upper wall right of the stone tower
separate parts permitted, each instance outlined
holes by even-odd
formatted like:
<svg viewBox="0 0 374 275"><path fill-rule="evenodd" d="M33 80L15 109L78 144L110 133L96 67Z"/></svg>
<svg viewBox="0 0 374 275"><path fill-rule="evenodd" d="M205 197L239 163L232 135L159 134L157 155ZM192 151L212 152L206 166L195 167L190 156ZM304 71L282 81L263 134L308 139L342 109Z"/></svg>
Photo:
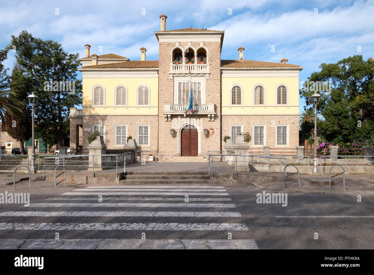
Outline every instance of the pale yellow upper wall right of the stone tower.
<svg viewBox="0 0 374 275"><path fill-rule="evenodd" d="M231 103L230 89L233 85L239 84L243 88L243 106L233 105ZM262 84L266 88L266 109L264 106L246 107L246 105L254 105L253 89L254 86ZM288 105L297 106L282 106L276 104L276 88L279 84L286 84L289 88ZM261 113L299 113L299 86L298 77L222 77L222 113L236 113L236 114L261 114ZM277 106L269 106L277 105ZM243 107L243 108L242 108Z"/></svg>

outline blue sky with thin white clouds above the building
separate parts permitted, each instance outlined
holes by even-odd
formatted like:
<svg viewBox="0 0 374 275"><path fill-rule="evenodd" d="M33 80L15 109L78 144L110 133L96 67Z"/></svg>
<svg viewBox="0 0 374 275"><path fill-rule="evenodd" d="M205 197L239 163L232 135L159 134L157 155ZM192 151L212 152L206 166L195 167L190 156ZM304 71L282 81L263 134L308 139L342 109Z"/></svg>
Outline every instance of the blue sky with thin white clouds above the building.
<svg viewBox="0 0 374 275"><path fill-rule="evenodd" d="M222 59L238 59L240 46L245 48L244 59L280 62L287 58L289 64L304 67L299 81L318 71L321 63L355 54L374 58L374 0L2 1L0 48L12 34L27 30L82 57L83 45L89 43L91 54L114 53L138 60L139 49L145 47L147 60L155 60L154 31L160 30L162 13L168 16L169 30L191 25L225 30ZM13 56L9 52L6 67L13 67ZM304 104L300 99L300 111Z"/></svg>

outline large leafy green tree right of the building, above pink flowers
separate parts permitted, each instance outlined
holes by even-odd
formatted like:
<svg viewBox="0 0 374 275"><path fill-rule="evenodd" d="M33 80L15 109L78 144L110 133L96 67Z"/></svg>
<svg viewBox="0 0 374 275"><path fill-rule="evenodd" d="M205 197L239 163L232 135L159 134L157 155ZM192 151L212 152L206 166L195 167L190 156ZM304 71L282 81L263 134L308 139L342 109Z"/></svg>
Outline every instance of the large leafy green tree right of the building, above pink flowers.
<svg viewBox="0 0 374 275"><path fill-rule="evenodd" d="M329 142L365 139L374 130L373 59L364 61L362 55L354 55L334 64L322 63L320 68L307 79L309 89L300 89L300 96L312 106L311 95L321 95L318 110L324 119L318 128L322 137ZM318 82L330 82L331 89L321 91Z"/></svg>

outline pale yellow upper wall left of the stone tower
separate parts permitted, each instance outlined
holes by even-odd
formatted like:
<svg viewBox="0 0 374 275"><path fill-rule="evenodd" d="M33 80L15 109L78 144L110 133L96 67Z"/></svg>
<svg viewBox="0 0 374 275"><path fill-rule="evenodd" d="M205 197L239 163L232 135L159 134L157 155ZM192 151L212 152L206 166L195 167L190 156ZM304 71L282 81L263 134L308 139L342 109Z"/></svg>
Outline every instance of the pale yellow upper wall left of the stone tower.
<svg viewBox="0 0 374 275"><path fill-rule="evenodd" d="M83 107L84 114L157 114L158 105L158 78L83 78ZM150 106L137 107L137 89L140 85L145 84L150 88ZM105 106L91 107L92 89L96 85L105 88ZM125 107L116 107L114 102L114 89L118 85L125 85L128 91L127 105ZM108 107L112 106L112 107ZM114 107L116 109L114 109ZM104 109L105 107L105 109ZM126 109L127 108L127 109ZM138 109L137 109L138 108Z"/></svg>

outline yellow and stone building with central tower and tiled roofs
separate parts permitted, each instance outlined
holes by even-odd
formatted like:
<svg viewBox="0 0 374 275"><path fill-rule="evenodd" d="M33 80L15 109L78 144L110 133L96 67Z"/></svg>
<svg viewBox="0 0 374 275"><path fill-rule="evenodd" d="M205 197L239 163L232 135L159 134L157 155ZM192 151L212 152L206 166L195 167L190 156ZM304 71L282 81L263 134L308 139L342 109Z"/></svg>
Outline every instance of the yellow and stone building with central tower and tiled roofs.
<svg viewBox="0 0 374 275"><path fill-rule="evenodd" d="M223 60L224 31L168 30L160 16L159 60L130 61L116 54L90 53L80 58L82 110L70 109L70 147L88 148L88 134L99 130L109 149L123 148L127 137L138 150L157 151L159 160L206 156L224 150L249 132L249 152L288 155L299 145L298 76L288 64L245 59ZM231 41L229 43L235 43ZM193 94L193 113L185 111Z"/></svg>

